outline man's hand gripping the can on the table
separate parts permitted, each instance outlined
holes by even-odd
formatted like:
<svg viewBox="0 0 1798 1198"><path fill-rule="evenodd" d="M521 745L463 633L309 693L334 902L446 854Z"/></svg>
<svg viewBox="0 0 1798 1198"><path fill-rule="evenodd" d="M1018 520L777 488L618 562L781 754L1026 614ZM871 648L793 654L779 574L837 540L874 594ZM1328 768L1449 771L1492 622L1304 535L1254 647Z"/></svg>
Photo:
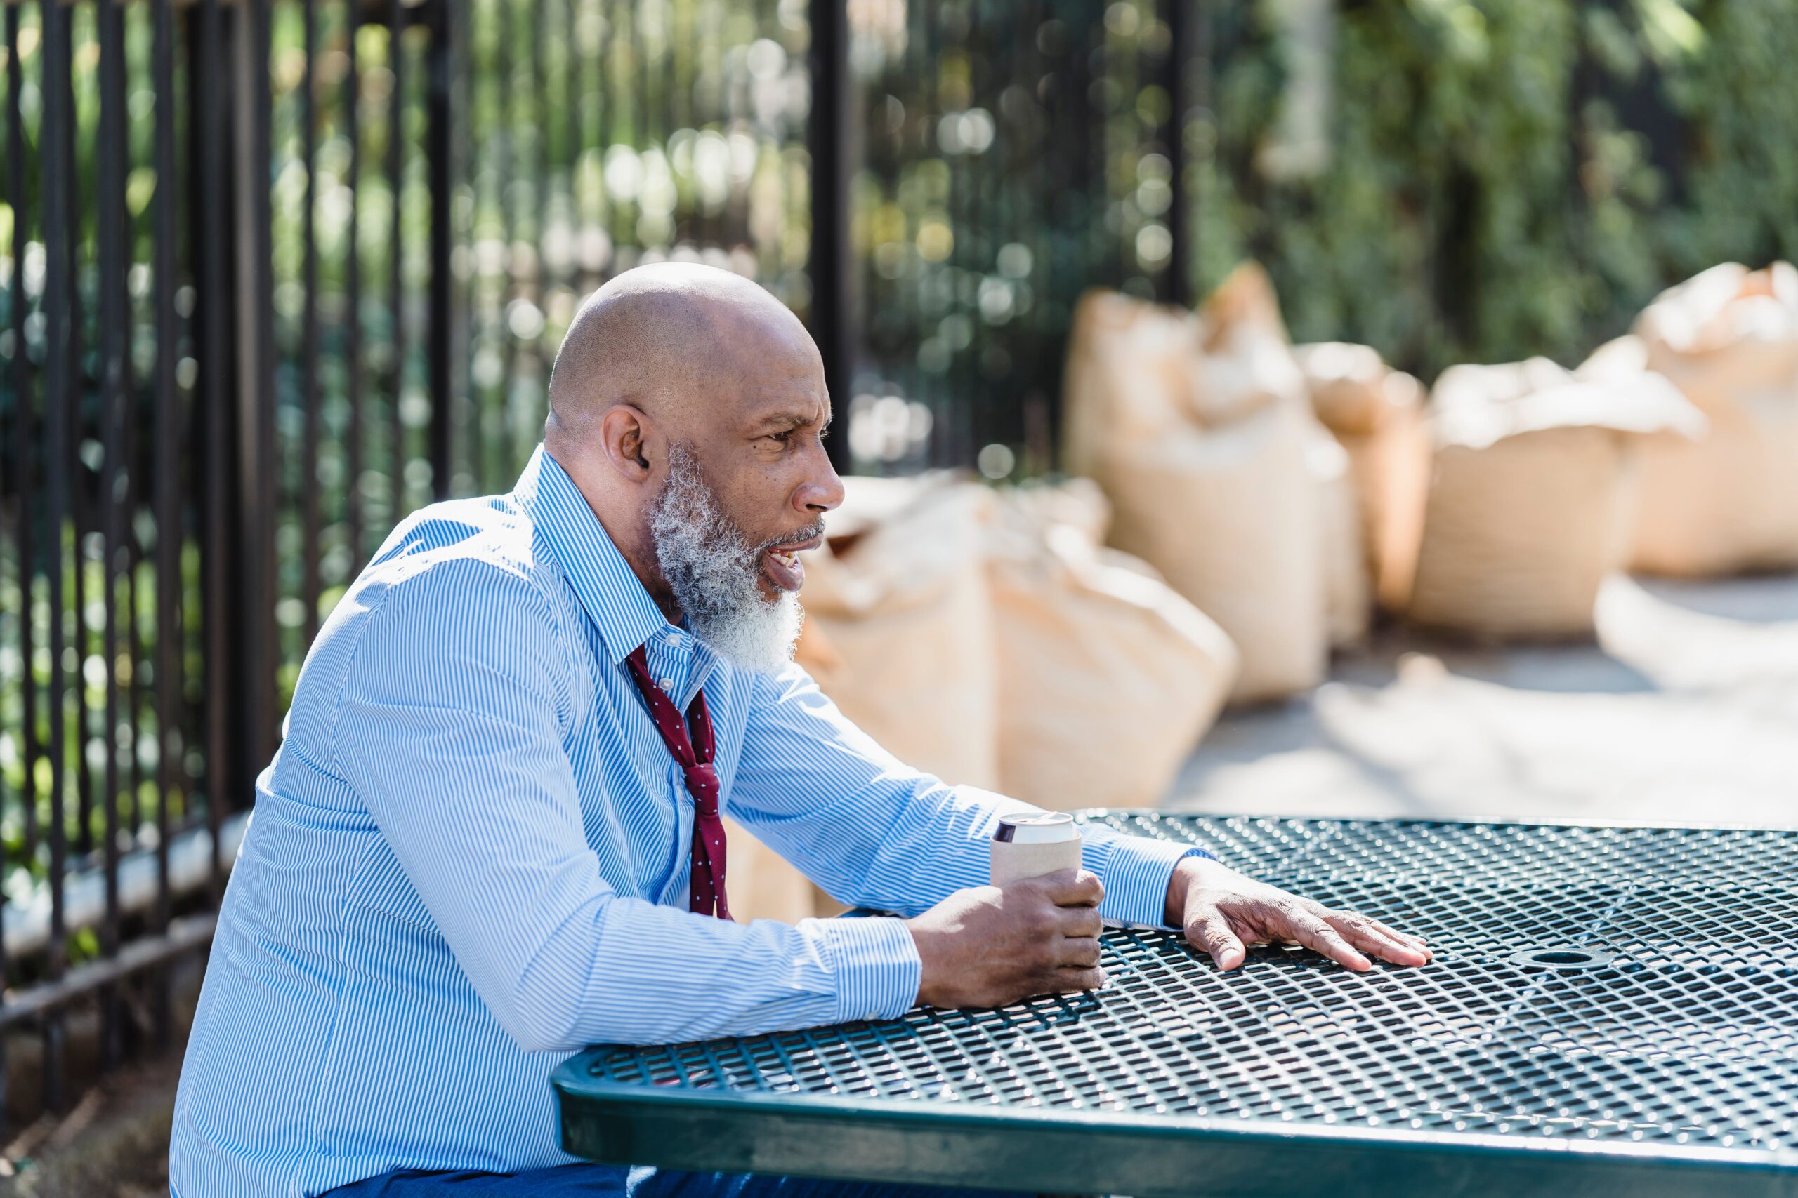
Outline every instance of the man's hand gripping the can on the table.
<svg viewBox="0 0 1798 1198"><path fill-rule="evenodd" d="M1099 990L1099 902L1106 889L1084 869L1061 869L1003 887L976 885L906 920L924 961L919 1002L1005 1006L1070 990Z"/></svg>

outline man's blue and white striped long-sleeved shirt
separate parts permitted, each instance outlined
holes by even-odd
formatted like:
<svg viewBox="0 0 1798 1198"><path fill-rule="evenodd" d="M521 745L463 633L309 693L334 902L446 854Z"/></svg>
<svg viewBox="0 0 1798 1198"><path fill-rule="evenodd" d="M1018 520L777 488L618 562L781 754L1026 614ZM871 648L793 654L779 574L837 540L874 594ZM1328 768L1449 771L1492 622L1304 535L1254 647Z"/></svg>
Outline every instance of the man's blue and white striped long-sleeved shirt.
<svg viewBox="0 0 1798 1198"><path fill-rule="evenodd" d="M894 760L797 666L669 625L539 447L507 496L403 521L320 630L219 912L169 1153L180 1198L570 1160L550 1070L886 1018L899 920L687 912L692 799L622 666L705 688L725 810L845 903L985 882L1027 805ZM1102 914L1160 923L1178 846L1088 830Z"/></svg>

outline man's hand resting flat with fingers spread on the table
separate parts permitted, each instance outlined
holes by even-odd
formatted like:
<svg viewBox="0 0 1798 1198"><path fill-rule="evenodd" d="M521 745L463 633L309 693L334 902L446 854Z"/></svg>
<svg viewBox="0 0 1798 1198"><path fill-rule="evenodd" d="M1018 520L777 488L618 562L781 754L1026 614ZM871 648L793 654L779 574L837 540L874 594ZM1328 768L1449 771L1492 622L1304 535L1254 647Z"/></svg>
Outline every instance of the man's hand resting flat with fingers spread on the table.
<svg viewBox="0 0 1798 1198"><path fill-rule="evenodd" d="M1167 921L1185 929L1192 947L1212 954L1219 970L1242 965L1244 945L1280 941L1316 948L1357 972L1374 968L1368 954L1393 965L1429 963L1422 936L1393 932L1352 911L1332 911L1205 857L1185 857L1174 866Z"/></svg>

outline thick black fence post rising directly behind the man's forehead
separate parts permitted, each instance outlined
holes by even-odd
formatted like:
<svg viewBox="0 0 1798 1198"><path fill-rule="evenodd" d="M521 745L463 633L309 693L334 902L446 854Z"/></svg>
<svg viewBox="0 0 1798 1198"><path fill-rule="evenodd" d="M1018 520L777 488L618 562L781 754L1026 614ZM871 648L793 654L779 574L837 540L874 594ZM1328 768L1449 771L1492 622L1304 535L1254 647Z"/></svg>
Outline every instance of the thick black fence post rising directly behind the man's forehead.
<svg viewBox="0 0 1798 1198"><path fill-rule="evenodd" d="M849 472L849 390L854 377L854 253L849 244L849 9L811 0L811 336L823 356L823 384L843 427L825 440L831 465Z"/></svg>

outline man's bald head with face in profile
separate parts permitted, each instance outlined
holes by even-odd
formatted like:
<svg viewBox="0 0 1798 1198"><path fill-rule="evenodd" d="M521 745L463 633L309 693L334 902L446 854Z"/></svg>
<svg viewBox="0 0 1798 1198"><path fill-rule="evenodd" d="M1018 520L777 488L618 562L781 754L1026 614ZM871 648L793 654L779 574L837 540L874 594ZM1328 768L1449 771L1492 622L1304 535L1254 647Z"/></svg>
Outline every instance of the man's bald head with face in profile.
<svg viewBox="0 0 1798 1198"><path fill-rule="evenodd" d="M793 313L748 278L663 262L581 305L556 354L543 449L676 620L703 587L676 596L663 559L712 569L743 557L764 600L798 589L793 553L843 499L829 424L823 361Z"/></svg>

